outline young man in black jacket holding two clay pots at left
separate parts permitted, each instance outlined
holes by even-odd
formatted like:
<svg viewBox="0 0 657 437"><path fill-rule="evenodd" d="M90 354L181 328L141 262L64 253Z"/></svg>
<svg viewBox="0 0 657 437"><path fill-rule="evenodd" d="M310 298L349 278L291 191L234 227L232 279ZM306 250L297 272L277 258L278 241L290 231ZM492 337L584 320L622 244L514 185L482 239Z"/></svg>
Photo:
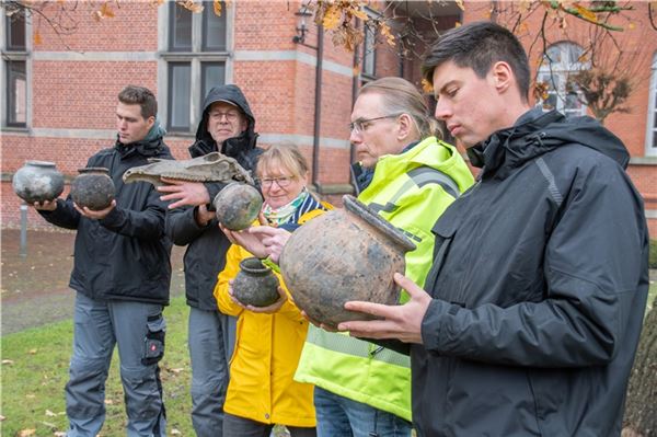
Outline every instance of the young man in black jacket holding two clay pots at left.
<svg viewBox="0 0 657 437"><path fill-rule="evenodd" d="M126 170L148 158L172 159L155 119L151 91L126 87L116 107L117 140L87 166L110 170L115 199L102 210L69 196L34 207L50 223L76 229L70 287L77 291L73 355L66 386L67 435L96 436L105 419L105 380L118 346L128 436L165 436L158 361L164 353L163 306L169 303L171 242L165 204L153 185L124 185Z"/></svg>

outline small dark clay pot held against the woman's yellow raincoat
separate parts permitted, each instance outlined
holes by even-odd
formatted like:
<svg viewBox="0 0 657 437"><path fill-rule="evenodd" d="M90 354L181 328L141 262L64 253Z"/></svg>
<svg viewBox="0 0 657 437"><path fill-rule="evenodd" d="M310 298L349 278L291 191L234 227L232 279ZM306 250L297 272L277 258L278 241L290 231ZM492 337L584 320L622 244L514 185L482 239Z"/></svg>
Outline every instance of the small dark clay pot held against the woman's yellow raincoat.
<svg viewBox="0 0 657 437"><path fill-rule="evenodd" d="M232 289L235 299L254 307L268 307L280 298L278 278L256 257L240 262L240 273L233 280Z"/></svg>

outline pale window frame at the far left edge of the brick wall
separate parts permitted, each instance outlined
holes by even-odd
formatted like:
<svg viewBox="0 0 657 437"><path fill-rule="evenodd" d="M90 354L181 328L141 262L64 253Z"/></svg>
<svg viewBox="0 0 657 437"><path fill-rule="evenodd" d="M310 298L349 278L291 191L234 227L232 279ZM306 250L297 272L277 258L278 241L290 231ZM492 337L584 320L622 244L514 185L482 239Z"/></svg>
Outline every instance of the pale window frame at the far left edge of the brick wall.
<svg viewBox="0 0 657 437"><path fill-rule="evenodd" d="M28 130L30 126L32 126L32 21L28 15L25 16L25 49L16 50L8 48L8 36L7 32L9 31L7 26L7 15L4 8L0 8L0 55L2 60L0 61L0 87L2 90L2 94L4 95L9 89L8 83L8 62L9 61L24 61L25 62L25 125L8 125L9 123L9 114L8 114L8 95L4 95L4 99L1 103L0 108L0 126L2 130L19 130L24 131Z"/></svg>

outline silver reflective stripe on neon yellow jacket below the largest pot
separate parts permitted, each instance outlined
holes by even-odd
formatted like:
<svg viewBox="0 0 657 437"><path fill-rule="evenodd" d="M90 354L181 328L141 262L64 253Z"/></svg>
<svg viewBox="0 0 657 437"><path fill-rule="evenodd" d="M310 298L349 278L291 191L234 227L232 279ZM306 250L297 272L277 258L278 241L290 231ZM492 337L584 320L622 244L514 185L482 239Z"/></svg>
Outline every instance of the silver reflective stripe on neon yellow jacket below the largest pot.
<svg viewBox="0 0 657 437"><path fill-rule="evenodd" d="M368 352L362 347L362 341L358 341L346 334L333 333L333 335L325 335L320 329L311 329L308 330L306 341L333 352L339 352L361 358L377 359L401 367L411 366L411 359L406 355L384 348L383 346L378 346L376 349Z"/></svg>

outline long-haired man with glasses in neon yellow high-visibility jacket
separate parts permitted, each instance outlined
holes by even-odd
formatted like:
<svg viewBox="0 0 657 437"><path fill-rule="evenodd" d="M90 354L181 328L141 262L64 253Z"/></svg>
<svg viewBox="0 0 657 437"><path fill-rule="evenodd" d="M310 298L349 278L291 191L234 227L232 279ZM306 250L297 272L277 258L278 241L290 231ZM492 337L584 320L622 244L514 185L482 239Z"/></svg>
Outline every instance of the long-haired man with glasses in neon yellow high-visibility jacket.
<svg viewBox="0 0 657 437"><path fill-rule="evenodd" d="M472 173L453 146L437 139L424 97L404 79L362 87L349 127L360 161L354 165L358 199L416 244L405 255L405 274L423 284L434 249L431 227L472 185ZM273 260L287 240L284 231L266 227L231 237ZM315 386L320 437L411 436L405 355L311 325L295 379Z"/></svg>

